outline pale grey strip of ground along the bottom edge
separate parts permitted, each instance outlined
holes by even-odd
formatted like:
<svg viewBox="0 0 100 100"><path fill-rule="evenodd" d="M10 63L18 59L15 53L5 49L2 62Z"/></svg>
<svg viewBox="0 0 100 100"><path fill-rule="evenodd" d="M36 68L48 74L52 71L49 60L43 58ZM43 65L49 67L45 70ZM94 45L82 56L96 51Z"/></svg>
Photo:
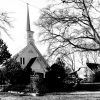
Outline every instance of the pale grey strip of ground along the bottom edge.
<svg viewBox="0 0 100 100"><path fill-rule="evenodd" d="M18 95L0 93L0 100L100 100L100 91L95 92L65 92L59 94L46 94L44 96Z"/></svg>

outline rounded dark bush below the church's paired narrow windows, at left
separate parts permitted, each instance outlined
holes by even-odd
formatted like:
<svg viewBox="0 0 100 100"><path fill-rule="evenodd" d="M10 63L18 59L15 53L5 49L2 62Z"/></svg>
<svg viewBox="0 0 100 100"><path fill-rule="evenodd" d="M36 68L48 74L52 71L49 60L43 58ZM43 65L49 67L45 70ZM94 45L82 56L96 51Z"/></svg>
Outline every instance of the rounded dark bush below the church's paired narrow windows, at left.
<svg viewBox="0 0 100 100"><path fill-rule="evenodd" d="M17 84L20 72L22 71L20 64L15 59L9 59L4 63L4 66L3 70L6 80L10 84Z"/></svg>

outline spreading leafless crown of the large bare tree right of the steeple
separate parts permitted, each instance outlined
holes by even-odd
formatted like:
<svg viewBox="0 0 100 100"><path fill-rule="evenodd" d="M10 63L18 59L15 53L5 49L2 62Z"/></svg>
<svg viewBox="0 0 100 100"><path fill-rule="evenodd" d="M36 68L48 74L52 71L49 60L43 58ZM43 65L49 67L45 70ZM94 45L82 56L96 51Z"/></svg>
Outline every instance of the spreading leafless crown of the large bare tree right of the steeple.
<svg viewBox="0 0 100 100"><path fill-rule="evenodd" d="M37 25L50 56L100 52L98 0L58 0L42 9ZM56 1L55 1L56 2ZM69 51L70 50L70 51Z"/></svg>

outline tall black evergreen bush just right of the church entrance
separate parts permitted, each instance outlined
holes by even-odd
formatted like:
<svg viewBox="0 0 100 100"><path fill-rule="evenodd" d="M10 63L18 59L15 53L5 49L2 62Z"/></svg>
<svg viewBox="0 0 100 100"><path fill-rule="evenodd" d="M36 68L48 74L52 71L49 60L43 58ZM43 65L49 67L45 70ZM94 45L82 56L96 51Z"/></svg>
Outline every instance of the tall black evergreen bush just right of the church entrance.
<svg viewBox="0 0 100 100"><path fill-rule="evenodd" d="M56 63L54 63L46 73L47 88L49 88L50 91L58 91L62 87L62 82L65 78L64 67L65 63L60 58L57 58Z"/></svg>

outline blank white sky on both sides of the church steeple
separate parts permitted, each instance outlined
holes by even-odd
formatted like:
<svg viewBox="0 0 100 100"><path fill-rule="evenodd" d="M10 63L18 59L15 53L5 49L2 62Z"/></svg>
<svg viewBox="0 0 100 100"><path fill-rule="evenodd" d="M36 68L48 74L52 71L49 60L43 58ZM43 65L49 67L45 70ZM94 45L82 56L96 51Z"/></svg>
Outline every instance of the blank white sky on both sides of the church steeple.
<svg viewBox="0 0 100 100"><path fill-rule="evenodd" d="M48 0L2 0L0 2L0 12L8 12L9 16L12 18L13 28L8 28L8 33L10 34L10 39L5 33L1 33L1 37L8 45L9 51L14 55L19 52L22 48L26 46L26 4L28 2L31 4L30 9L30 19L31 28L35 32L34 38L37 45L38 28L35 27L34 22L38 19L40 15L40 9L46 7ZM38 49L42 54L45 52L43 46L37 45Z"/></svg>

